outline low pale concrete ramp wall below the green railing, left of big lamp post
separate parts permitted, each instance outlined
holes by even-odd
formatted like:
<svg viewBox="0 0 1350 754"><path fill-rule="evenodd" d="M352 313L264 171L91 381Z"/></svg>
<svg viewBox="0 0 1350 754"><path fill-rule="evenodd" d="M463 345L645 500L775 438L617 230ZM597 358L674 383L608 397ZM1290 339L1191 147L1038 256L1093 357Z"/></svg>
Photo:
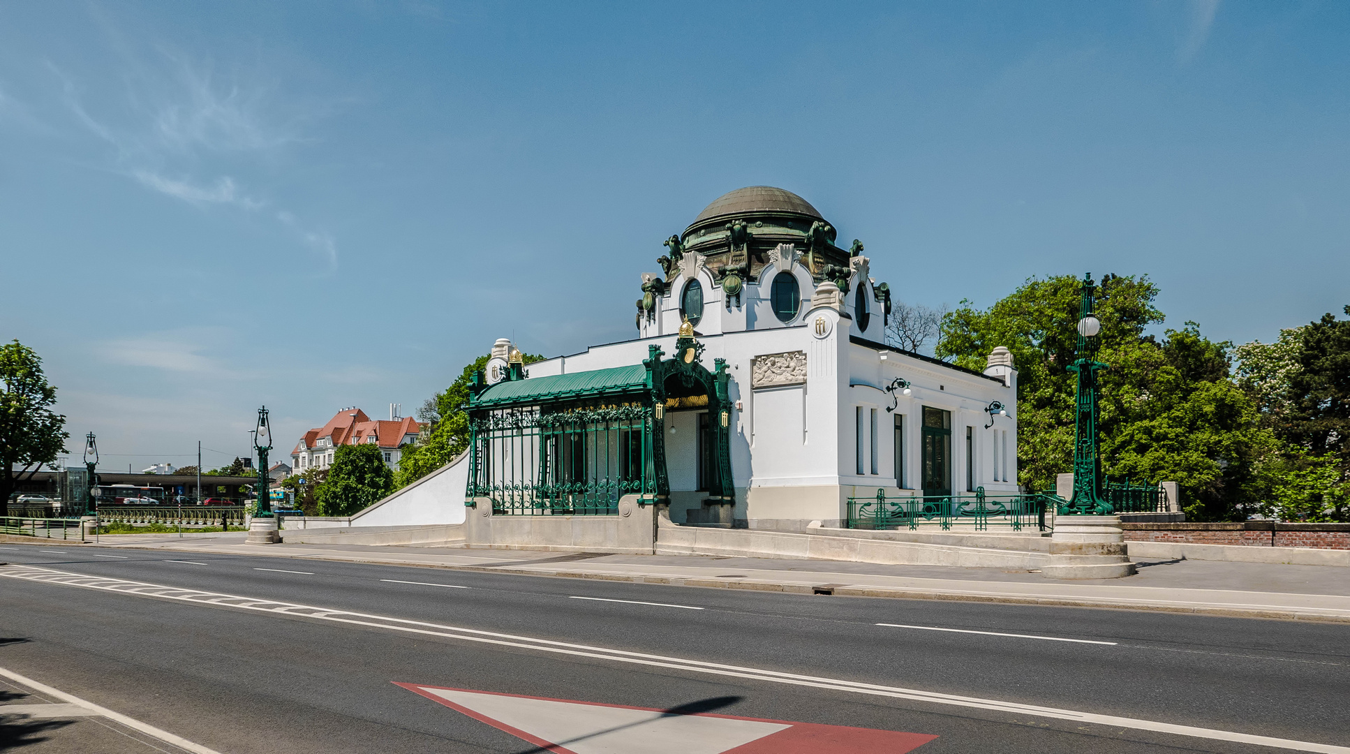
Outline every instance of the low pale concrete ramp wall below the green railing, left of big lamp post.
<svg viewBox="0 0 1350 754"><path fill-rule="evenodd" d="M1027 538L1027 549L969 547L932 542L903 542L875 536L848 536L845 530L830 534L790 534L747 528L680 526L668 516L657 516L656 554L659 555L740 555L752 558L790 558L850 561L887 565L936 565L961 568L1038 569L1049 558L1040 549L1040 538ZM875 535L882 532L859 532ZM888 532L887 532L888 534ZM961 535L964 536L964 535ZM1031 542L1030 539L1035 539ZM1000 541L1007 547L1010 542ZM1031 547L1038 547L1033 550Z"/></svg>

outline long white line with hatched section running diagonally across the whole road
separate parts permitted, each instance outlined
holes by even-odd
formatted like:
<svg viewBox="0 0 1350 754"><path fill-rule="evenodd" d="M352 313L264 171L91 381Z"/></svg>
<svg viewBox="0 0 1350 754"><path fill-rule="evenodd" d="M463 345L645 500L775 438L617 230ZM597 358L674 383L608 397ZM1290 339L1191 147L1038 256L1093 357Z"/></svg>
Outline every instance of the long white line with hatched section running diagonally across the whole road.
<svg viewBox="0 0 1350 754"><path fill-rule="evenodd" d="M950 693L927 692L922 689L907 689L902 686L886 686L879 684L865 684L848 681L844 678L829 678L821 676L805 676L798 673L783 673L779 670L764 670L740 665L725 665L718 662L703 662L701 659L684 659L663 654L645 654L625 651L591 645L576 645L568 642L555 642L551 639L536 639L533 636L520 636L513 634L500 634L495 631L482 631L477 628L463 628L458 626L444 626L427 623L423 620L409 620L406 618L393 618L387 615L371 615L363 612L350 612L335 608L315 605L301 605L294 603L281 603L277 600L262 600L254 597L240 597L235 595L221 595L213 592L200 592L196 589L181 589L144 581L130 581L124 578L104 578L85 576L65 570L55 570L38 566L11 565L0 566L0 576L9 578L23 578L43 584L57 584L61 586L82 586L85 589L99 589L104 592L117 592L139 597L159 597L194 604L216 604L219 607L234 607L256 612L270 612L273 615L288 615L296 618L313 618L329 620L332 623L346 623L350 626L366 626L370 628L383 628L386 631L401 631L405 634L418 634L425 636L441 636L482 645L495 645L505 647L545 651L552 654L566 654L574 657L590 657L610 662L625 662L629 665L645 665L651 668L670 668L687 673L706 673L709 676L726 676L734 678L749 678L761 682L786 684L794 686L807 686L829 690L859 693L867 696L880 696L888 699L905 699L927 704L946 704L952 707L967 707L972 709L992 709L1010 715L1030 715L1035 718L1050 718L1057 720L1071 720L1080 724L1096 724L1115 728L1130 728L1139 731L1153 731L1170 735L1184 735L1204 738L1210 740L1228 740L1234 743L1250 743L1254 746L1269 746L1272 749L1288 749L1293 751L1314 751L1318 754L1350 754L1350 747L1330 743L1315 743L1308 740L1293 740L1287 738L1273 738L1265 735L1243 734L1235 731L1222 731L1216 728L1199 728L1193 726L1179 726L1157 720L1142 720L1138 718L1118 718L1115 715L1096 715L1076 709L1060 709L1056 707L1040 707L1035 704L1021 704L1017 701L1002 701L998 699L981 699L975 696L959 696ZM221 600L235 600L225 604ZM275 605L275 607L266 607ZM298 612L306 611L306 612ZM194 750L196 751L196 750Z"/></svg>

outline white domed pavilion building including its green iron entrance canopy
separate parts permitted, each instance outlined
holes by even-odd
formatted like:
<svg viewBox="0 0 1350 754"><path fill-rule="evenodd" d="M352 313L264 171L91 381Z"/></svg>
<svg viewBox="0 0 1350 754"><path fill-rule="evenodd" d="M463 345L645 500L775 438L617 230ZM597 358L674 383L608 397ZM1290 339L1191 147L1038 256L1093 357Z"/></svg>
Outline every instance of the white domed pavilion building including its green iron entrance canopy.
<svg viewBox="0 0 1350 754"><path fill-rule="evenodd" d="M556 515L632 493L676 523L801 530L878 491L1017 492L1011 355L980 373L886 346L888 286L802 197L733 191L666 243L637 338L528 372L497 342L467 500Z"/></svg>

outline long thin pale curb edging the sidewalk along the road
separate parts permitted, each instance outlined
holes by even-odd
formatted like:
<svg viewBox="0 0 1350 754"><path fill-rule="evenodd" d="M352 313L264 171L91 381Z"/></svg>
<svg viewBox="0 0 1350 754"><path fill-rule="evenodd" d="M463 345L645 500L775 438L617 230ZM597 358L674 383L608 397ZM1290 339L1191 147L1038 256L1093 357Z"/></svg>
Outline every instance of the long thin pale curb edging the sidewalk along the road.
<svg viewBox="0 0 1350 754"><path fill-rule="evenodd" d="M138 545L120 545L126 550L165 550L176 553L201 553L192 549L147 547ZM238 555L238 553L223 553ZM428 568L440 570L463 570L471 573L505 573L510 576L533 576L543 578L578 578L591 581L626 581L632 584L659 584L667 586L702 586L709 589L748 589L755 592L783 592L790 595L828 595L837 597L883 597L898 600L945 600L963 603L995 603L1014 605L1044 605L1044 607L1076 607L1092 609L1139 609L1149 612L1174 612L1183 615L1204 615L1214 618L1256 618L1272 620L1311 620L1316 623L1346 623L1350 624L1350 612L1343 615L1327 615L1310 609L1256 609L1224 607L1222 604L1196 603L1189 605L1162 604L1149 601L1125 601L1116 599L1091 597L1033 597L1022 595L984 595L940 589L887 589L884 586L844 586L840 584L776 584L764 581L720 581L716 578L674 578L667 576L633 576L624 573L587 573L575 570L541 572L524 568L498 568L478 565L444 565L444 563L404 563L369 558L333 558L325 555L290 555L282 553L265 553L259 555L269 558L290 558L306 561L328 561L339 563L387 565L401 568Z"/></svg>

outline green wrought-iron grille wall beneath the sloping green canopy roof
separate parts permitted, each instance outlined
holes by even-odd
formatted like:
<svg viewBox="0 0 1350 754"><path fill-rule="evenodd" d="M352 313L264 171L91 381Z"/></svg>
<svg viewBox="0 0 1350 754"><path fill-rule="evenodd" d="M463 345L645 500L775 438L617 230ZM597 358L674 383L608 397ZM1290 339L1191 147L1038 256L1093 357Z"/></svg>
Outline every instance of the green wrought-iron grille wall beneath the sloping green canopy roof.
<svg viewBox="0 0 1350 754"><path fill-rule="evenodd" d="M617 515L655 495L652 416L639 404L485 412L470 423L468 497L498 516Z"/></svg>

